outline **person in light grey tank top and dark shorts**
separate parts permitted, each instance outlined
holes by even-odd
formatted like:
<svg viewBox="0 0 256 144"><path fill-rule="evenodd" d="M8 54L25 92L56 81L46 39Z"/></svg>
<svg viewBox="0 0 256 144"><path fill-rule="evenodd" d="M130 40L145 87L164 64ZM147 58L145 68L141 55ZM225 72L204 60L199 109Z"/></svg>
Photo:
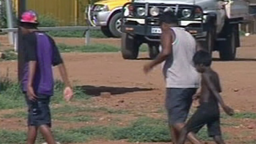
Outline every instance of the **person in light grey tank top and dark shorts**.
<svg viewBox="0 0 256 144"><path fill-rule="evenodd" d="M173 12L164 12L159 16L159 21L162 50L155 60L144 66L144 72L147 74L153 67L164 62L168 124L173 144L177 144L180 130L185 125L192 104L192 97L200 82L199 73L193 63L197 43L184 28L178 27L178 19ZM192 132L187 138L193 144L199 142Z"/></svg>

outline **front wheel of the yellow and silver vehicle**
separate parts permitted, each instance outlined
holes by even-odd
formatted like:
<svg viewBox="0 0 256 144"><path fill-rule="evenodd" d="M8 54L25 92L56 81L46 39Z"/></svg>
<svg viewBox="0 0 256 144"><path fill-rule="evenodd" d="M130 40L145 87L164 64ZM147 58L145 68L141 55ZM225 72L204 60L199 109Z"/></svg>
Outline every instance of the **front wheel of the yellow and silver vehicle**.
<svg viewBox="0 0 256 144"><path fill-rule="evenodd" d="M109 21L109 30L111 31L114 37L121 37L121 18L122 13L117 13L114 16L112 16L111 20Z"/></svg>

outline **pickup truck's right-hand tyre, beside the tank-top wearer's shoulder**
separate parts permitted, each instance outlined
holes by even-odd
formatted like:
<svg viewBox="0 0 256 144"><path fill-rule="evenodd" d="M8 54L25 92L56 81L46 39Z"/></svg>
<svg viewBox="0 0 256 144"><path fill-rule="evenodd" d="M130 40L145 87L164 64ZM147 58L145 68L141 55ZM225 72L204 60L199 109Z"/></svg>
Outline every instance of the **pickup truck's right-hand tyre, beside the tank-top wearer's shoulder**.
<svg viewBox="0 0 256 144"><path fill-rule="evenodd" d="M220 59L222 61L234 61L236 55L236 43L235 43L235 29L231 28L230 34L227 36L227 40L221 42L221 48L219 50Z"/></svg>

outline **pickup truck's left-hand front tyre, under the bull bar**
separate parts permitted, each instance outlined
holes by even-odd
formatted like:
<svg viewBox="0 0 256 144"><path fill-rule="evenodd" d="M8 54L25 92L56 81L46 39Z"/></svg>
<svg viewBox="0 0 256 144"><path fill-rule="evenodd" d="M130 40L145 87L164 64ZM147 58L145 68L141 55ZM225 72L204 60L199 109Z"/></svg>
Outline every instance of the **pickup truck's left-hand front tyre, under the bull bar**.
<svg viewBox="0 0 256 144"><path fill-rule="evenodd" d="M122 33L121 52L124 59L134 60L138 57L138 49L141 42L136 41L134 36Z"/></svg>

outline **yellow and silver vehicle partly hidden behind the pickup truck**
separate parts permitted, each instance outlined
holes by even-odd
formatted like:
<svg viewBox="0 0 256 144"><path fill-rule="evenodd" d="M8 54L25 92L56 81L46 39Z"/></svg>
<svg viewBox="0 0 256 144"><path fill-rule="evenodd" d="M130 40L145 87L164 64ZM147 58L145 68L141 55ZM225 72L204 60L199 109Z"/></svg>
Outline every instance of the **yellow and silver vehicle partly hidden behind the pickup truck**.
<svg viewBox="0 0 256 144"><path fill-rule="evenodd" d="M86 19L107 37L121 37L121 10L127 2L131 0L100 0L86 8Z"/></svg>

